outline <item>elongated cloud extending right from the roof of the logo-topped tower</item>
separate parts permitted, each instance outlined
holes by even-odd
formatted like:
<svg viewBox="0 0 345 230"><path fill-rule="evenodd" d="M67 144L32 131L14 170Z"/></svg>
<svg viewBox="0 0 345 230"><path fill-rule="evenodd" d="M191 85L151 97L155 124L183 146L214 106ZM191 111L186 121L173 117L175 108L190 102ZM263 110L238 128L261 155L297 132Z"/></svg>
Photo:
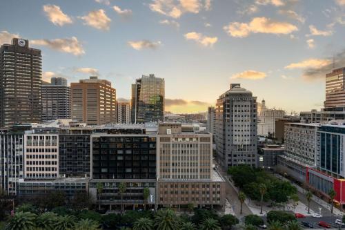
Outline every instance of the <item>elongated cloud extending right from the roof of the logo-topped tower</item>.
<svg viewBox="0 0 345 230"><path fill-rule="evenodd" d="M68 52L72 55L83 55L85 50L81 46L81 42L78 41L77 37L71 37L67 39L39 39L30 41L31 44L37 46L47 46L53 50L58 50L60 52Z"/></svg>

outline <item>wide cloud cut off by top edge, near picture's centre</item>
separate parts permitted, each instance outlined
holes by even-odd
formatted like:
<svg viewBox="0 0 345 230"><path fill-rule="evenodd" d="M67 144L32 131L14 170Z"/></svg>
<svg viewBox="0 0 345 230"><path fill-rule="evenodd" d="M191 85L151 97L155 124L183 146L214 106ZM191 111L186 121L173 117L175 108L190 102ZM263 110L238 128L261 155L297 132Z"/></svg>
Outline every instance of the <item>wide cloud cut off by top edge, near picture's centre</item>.
<svg viewBox="0 0 345 230"><path fill-rule="evenodd" d="M210 0L152 0L149 4L150 10L161 15L181 17L186 12L197 14L201 9L210 10Z"/></svg>

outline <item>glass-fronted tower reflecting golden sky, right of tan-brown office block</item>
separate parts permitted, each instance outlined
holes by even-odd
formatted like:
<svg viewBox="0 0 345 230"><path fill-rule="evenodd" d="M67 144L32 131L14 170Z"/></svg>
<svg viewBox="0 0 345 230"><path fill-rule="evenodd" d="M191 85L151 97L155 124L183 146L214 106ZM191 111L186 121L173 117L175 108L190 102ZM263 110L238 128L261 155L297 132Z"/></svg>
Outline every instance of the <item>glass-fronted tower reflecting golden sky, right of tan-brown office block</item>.
<svg viewBox="0 0 345 230"><path fill-rule="evenodd" d="M150 74L136 80L132 85L132 113L132 123L164 121L164 78Z"/></svg>

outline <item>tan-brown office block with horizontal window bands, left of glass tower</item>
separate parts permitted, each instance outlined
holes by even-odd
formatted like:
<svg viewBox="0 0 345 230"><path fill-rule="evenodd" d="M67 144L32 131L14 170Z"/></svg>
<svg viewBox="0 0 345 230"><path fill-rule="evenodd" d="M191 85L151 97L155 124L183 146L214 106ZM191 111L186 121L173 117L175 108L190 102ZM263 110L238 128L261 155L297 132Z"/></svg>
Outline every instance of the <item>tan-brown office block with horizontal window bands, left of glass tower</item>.
<svg viewBox="0 0 345 230"><path fill-rule="evenodd" d="M117 122L116 90L107 80L92 76L71 83L72 119L88 125Z"/></svg>

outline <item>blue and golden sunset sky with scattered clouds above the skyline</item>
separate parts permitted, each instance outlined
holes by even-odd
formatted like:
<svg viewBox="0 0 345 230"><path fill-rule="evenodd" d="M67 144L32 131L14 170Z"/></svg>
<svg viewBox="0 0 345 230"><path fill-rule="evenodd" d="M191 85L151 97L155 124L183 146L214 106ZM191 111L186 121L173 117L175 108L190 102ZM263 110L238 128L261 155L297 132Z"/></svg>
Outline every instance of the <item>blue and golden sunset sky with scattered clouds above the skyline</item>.
<svg viewBox="0 0 345 230"><path fill-rule="evenodd" d="M42 50L45 80L98 75L129 99L153 73L172 113L240 83L289 114L322 108L325 74L345 66L345 0L1 0L0 44L12 37Z"/></svg>

